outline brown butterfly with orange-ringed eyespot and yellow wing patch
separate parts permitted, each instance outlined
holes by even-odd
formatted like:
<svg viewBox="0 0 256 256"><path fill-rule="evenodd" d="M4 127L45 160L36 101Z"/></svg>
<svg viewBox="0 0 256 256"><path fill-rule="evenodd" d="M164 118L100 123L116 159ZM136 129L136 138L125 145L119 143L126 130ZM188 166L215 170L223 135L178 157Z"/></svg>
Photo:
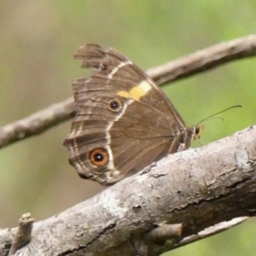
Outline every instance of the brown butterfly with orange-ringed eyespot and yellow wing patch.
<svg viewBox="0 0 256 256"><path fill-rule="evenodd" d="M117 183L199 137L201 127L187 127L153 80L115 49L86 44L74 57L92 68L73 82L77 114L64 143L80 177Z"/></svg>

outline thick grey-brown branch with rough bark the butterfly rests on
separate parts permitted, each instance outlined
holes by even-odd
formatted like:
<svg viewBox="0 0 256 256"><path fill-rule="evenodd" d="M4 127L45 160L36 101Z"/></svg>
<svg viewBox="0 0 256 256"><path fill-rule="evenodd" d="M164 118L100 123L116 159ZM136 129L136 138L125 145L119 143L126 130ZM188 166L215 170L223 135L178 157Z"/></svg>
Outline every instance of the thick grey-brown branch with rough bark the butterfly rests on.
<svg viewBox="0 0 256 256"><path fill-rule="evenodd" d="M170 154L147 172L34 224L32 241L15 255L154 256L239 224L246 219L239 217L256 214L255 145L256 125ZM173 224L181 224L181 236L148 241L154 229ZM0 231L0 255L14 233Z"/></svg>

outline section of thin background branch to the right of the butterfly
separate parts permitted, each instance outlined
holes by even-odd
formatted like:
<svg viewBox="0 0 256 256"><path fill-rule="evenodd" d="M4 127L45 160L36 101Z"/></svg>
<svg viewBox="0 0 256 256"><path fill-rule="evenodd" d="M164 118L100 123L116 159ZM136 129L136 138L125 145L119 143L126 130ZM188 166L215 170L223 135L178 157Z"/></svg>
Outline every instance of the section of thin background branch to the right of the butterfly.
<svg viewBox="0 0 256 256"><path fill-rule="evenodd" d="M178 79L188 78L195 73L202 73L220 67L230 61L236 61L256 55L256 35L224 42L186 55L176 61L148 69L148 75L158 85Z"/></svg>

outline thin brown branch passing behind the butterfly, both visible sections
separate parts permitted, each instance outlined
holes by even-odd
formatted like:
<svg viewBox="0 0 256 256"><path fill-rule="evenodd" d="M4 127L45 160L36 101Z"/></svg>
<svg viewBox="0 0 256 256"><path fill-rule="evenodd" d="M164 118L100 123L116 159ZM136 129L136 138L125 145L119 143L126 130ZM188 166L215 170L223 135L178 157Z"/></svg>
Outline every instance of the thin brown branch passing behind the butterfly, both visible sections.
<svg viewBox="0 0 256 256"><path fill-rule="evenodd" d="M147 71L157 84L166 84L177 79L188 78L230 61L256 55L256 35L239 38L230 42L213 45L207 49L184 56L160 67ZM21 139L38 135L49 128L70 119L75 113L72 99L57 103L34 113L26 119L20 119L0 129L0 148Z"/></svg>

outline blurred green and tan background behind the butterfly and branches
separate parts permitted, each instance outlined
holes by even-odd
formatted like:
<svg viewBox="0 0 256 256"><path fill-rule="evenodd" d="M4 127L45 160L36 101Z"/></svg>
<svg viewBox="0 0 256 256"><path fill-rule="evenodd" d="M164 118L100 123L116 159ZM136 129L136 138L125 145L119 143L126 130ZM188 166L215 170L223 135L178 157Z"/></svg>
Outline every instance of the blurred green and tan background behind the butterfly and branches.
<svg viewBox="0 0 256 256"><path fill-rule="evenodd" d="M72 96L84 76L73 52L82 44L111 46L147 69L212 44L255 32L256 1L0 2L0 125ZM205 123L201 143L255 123L255 59L236 61L165 86L188 125L232 105L224 121ZM68 165L62 143L70 122L0 151L0 228L16 226L24 212L36 221L96 195ZM198 143L195 147L200 146ZM178 248L170 255L255 255L256 223ZM166 253L168 255L168 253Z"/></svg>

